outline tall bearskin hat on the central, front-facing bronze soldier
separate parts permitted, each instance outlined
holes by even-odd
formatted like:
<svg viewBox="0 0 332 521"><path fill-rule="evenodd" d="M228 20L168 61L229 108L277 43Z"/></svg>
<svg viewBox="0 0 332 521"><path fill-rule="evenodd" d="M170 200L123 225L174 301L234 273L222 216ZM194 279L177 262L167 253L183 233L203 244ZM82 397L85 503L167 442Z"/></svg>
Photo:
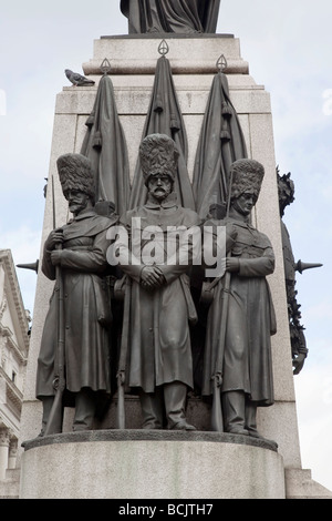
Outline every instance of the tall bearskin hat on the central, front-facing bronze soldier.
<svg viewBox="0 0 332 521"><path fill-rule="evenodd" d="M144 183L147 185L152 175L168 175L175 181L177 173L178 150L175 142L166 134L147 135L141 143L139 157Z"/></svg>

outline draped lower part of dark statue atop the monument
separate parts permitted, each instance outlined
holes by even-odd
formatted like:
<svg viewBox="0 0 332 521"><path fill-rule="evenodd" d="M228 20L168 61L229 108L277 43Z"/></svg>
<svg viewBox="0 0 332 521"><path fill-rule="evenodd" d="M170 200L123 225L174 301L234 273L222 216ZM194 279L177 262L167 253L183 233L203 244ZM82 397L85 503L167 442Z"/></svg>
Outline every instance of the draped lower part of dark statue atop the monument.
<svg viewBox="0 0 332 521"><path fill-rule="evenodd" d="M216 32L220 0L122 0L128 32Z"/></svg>

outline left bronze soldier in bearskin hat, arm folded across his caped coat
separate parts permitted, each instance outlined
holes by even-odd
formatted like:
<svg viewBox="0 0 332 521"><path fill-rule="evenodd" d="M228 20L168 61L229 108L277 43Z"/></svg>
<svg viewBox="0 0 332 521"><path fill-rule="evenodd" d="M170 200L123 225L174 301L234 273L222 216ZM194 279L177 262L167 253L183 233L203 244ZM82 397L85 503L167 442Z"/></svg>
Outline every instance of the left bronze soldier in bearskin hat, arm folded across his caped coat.
<svg viewBox="0 0 332 521"><path fill-rule="evenodd" d="M65 406L75 407L74 431L91 429L98 400L111 392L106 232L117 218L95 212L90 160L62 155L58 171L73 218L53 229L44 244L42 272L56 282L38 358L37 397L43 402L40 436L62 431Z"/></svg>

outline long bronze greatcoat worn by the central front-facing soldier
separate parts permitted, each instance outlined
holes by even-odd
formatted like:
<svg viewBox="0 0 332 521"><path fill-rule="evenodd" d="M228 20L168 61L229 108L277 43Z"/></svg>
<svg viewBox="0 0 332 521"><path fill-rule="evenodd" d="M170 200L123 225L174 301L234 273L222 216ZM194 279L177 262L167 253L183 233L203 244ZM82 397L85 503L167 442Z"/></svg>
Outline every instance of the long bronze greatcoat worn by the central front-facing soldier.
<svg viewBox="0 0 332 521"><path fill-rule="evenodd" d="M126 385L145 392L154 392L156 386L173 381L193 388L189 321L194 323L197 315L187 275L193 251L186 247L186 241L189 229L194 231L194 241L200 241L198 215L178 206L175 194L170 194L162 205L148 198L144 206L128 211L121 221L131 239L131 262L128 245L122 239L116 244L121 267L131 278L126 295L129 316L127 321L124 317L123 330L123 339L128 343ZM157 226L159 234L151 233L148 226ZM180 238L167 235L167 227L178 226ZM164 255L167 238L176 251L168 263ZM141 258L135 255L137 246L142 249ZM149 251L155 251L156 258L145 257L144 263L142 257ZM160 288L148 290L142 286L141 272L148 264L157 264L162 269L165 284Z"/></svg>

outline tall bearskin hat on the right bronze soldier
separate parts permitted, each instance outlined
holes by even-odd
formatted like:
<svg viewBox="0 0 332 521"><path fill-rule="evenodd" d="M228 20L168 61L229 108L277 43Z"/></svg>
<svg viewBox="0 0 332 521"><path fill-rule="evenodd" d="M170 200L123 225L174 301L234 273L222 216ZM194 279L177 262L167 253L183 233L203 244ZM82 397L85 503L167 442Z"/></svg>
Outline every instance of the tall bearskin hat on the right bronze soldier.
<svg viewBox="0 0 332 521"><path fill-rule="evenodd" d="M264 167L258 161L246 159L232 163L230 166L230 200L238 198L245 192L253 191L257 201L263 176Z"/></svg>

